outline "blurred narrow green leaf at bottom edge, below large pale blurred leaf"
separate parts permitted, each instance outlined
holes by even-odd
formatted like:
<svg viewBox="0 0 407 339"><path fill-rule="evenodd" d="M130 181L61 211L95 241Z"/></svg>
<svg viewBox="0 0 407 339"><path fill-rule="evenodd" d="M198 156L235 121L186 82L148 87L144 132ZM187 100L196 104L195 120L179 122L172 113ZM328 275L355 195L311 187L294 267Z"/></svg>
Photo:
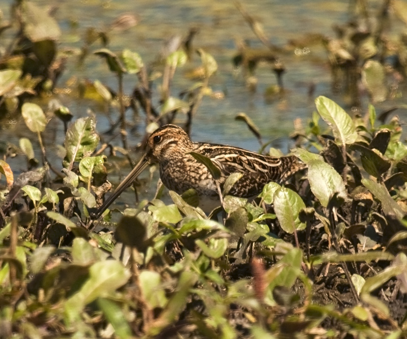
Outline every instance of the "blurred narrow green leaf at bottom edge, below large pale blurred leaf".
<svg viewBox="0 0 407 339"><path fill-rule="evenodd" d="M106 320L113 326L115 336L120 339L133 337L123 309L116 302L107 298L98 298L98 306L105 315Z"/></svg>

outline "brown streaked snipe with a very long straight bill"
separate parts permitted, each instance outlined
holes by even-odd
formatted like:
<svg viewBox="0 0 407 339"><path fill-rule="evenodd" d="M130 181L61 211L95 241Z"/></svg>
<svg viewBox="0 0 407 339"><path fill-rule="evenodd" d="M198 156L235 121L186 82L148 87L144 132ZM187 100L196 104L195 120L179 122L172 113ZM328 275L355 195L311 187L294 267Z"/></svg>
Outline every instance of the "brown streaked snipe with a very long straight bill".
<svg viewBox="0 0 407 339"><path fill-rule="evenodd" d="M215 181L206 165L191 152L212 160L220 170ZM193 142L179 126L168 124L156 129L148 137L144 154L133 170L94 213L99 218L110 204L152 163L158 163L164 186L182 194L193 188L199 196L219 197L225 180L233 173L242 177L229 190L230 195L253 197L271 182L284 182L305 164L296 156L273 157L220 144Z"/></svg>

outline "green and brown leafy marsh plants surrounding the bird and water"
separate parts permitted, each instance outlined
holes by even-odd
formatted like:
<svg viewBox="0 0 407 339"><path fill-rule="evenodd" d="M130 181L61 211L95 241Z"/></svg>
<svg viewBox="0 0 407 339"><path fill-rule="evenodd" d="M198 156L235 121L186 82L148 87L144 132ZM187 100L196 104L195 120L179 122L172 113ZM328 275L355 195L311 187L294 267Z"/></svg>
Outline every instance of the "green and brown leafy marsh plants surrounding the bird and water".
<svg viewBox="0 0 407 339"><path fill-rule="evenodd" d="M385 2L378 22L402 7ZM248 82L260 60L273 63L281 76L278 49L238 8L268 53L242 47L234 62L247 68ZM131 163L125 111L144 114L146 133L184 113L190 131L203 96L215 95L210 78L217 63L198 49L199 80L176 96L171 81L188 61L189 40L153 66L129 49L95 48L117 78L117 90L94 81L82 82L78 92L118 113L112 129L119 127L123 147L112 147L100 143L92 112L71 121L67 107L53 104L44 114L39 98L57 97L69 55L59 50L55 20L33 3L16 1L13 19L0 30L14 30L0 59L0 115L7 120L21 112L42 159L35 158L32 141L21 138L15 149L26 157L26 171L14 175L12 152L0 160L0 337L406 335L407 144L394 109L376 114L372 104L363 108L358 90L363 87L373 103L403 95L405 36L396 43L383 25L362 32L356 23L338 28L336 40L313 36L312 43L327 47L333 82L345 81L344 94L359 110L350 114L327 97L315 99L312 118L297 122L292 134L292 151L308 169L285 185L269 183L247 201L228 195L239 179L231 175L220 192L222 206L207 216L193 191L170 191L172 202L165 203L167 191L158 184L153 200L93 221L90 214L111 188L107 164L122 158ZM99 39L107 47L105 33L93 32L81 58ZM125 74L137 78L129 96ZM397 86L389 78L398 79ZM62 173L44 147L49 114L65 126ZM250 118L237 118L261 143ZM107 149L121 160L108 158Z"/></svg>

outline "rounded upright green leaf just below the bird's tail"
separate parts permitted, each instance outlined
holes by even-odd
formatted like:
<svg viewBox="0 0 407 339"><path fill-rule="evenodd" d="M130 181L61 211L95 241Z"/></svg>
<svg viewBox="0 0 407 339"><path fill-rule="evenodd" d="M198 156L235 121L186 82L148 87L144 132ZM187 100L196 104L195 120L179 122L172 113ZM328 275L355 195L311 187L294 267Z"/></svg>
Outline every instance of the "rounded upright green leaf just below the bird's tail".
<svg viewBox="0 0 407 339"><path fill-rule="evenodd" d="M300 221L299 214L305 208L298 193L293 190L280 187L274 193L274 212L280 222L281 228L287 233L305 229L306 224Z"/></svg>

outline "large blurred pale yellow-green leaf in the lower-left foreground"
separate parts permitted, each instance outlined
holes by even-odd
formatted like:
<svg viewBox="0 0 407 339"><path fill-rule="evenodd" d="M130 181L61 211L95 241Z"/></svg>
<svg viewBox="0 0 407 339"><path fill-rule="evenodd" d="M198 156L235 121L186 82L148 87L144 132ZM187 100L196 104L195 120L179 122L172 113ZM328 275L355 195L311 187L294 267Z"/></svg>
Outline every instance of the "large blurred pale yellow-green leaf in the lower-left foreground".
<svg viewBox="0 0 407 339"><path fill-rule="evenodd" d="M93 264L89 278L81 289L65 302L65 322L71 324L80 319L86 304L98 297L108 296L127 283L130 272L119 261L106 260Z"/></svg>

